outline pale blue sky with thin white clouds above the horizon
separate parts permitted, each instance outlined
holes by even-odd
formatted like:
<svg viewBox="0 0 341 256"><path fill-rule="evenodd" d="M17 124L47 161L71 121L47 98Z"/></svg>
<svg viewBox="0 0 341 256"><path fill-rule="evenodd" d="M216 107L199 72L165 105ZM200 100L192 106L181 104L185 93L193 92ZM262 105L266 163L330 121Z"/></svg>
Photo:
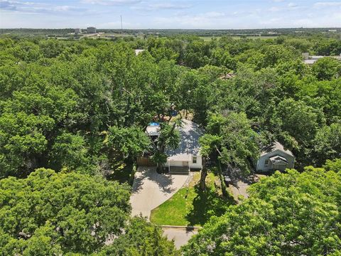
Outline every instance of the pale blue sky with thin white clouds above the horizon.
<svg viewBox="0 0 341 256"><path fill-rule="evenodd" d="M341 0L0 0L0 28L341 27Z"/></svg>

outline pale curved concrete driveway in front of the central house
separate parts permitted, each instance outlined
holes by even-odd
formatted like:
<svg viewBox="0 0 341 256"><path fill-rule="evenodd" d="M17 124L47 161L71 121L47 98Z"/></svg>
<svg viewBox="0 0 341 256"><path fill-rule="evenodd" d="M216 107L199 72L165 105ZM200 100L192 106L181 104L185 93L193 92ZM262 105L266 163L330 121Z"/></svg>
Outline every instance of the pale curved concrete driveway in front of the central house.
<svg viewBox="0 0 341 256"><path fill-rule="evenodd" d="M174 195L190 178L188 175L158 174L153 167L139 167L130 197L131 215L151 216L151 210Z"/></svg>

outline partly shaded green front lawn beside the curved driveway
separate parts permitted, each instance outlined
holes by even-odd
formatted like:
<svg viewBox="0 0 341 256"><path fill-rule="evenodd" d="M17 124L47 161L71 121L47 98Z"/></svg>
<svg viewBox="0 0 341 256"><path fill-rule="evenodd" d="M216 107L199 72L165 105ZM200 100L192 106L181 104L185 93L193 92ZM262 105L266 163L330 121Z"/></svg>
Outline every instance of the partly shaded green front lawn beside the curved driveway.
<svg viewBox="0 0 341 256"><path fill-rule="evenodd" d="M203 225L212 215L222 215L234 201L232 197L222 197L220 189L215 188L216 179L210 173L206 178L207 190L201 191L198 186L200 173L195 173L188 188L181 188L151 211L151 222L158 225Z"/></svg>

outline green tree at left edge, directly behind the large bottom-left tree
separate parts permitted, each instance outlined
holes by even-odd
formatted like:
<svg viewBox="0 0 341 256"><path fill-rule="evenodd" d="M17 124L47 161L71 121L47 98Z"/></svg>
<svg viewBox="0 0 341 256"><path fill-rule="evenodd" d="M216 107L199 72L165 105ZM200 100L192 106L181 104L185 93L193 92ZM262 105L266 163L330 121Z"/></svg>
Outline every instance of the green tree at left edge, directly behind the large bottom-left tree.
<svg viewBox="0 0 341 256"><path fill-rule="evenodd" d="M53 129L54 120L18 112L0 117L0 176L26 176L38 165L48 146L45 135Z"/></svg>

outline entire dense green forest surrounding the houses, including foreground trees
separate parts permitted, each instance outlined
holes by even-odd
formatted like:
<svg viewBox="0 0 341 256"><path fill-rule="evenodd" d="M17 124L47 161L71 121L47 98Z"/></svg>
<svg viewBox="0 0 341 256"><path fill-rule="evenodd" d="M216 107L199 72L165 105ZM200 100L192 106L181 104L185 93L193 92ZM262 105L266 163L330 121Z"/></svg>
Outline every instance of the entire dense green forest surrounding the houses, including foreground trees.
<svg viewBox="0 0 341 256"><path fill-rule="evenodd" d="M178 144L176 122L153 148L146 127L176 110L205 131L211 164L250 174L274 141L296 156L296 170L252 186L184 255L338 255L341 62L306 65L305 52L340 55L341 41L1 36L0 254L180 254L129 205L136 157L162 164Z"/></svg>

